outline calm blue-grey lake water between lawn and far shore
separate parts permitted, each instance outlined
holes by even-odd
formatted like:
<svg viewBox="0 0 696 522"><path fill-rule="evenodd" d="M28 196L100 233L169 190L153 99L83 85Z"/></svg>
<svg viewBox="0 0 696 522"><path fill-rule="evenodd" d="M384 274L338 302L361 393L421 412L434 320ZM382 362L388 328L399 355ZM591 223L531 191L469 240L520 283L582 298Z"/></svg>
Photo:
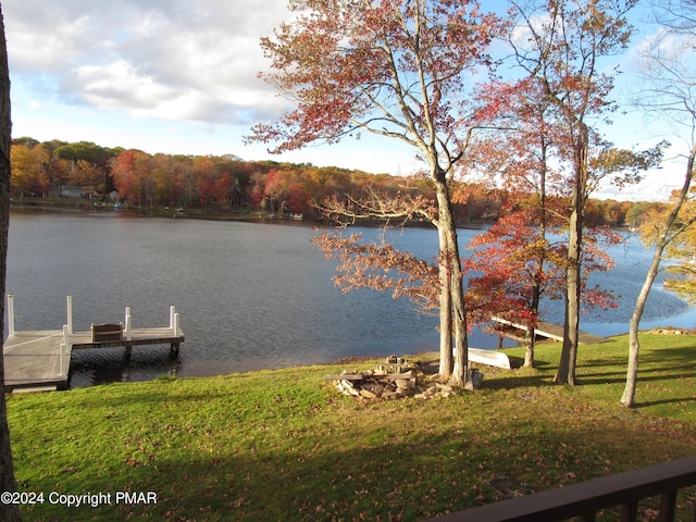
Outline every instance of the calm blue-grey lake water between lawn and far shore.
<svg viewBox="0 0 696 522"><path fill-rule="evenodd" d="M478 232L461 229L461 244ZM78 331L123 321L125 307L134 327L164 326L169 307L176 307L186 334L176 360L167 346L135 348L128 365L122 349L86 350L73 357L73 387L437 350L436 316L388 294L341 294L332 282L335 263L310 244L314 235L300 224L13 212L7 290L15 296L15 327L61 328L67 295ZM432 229L395 232L390 239L424 259L436 253ZM627 331L650 256L634 239L611 253L617 269L595 283L621 295L620 308L581 325L598 335ZM562 321L562 308L550 303L544 319ZM695 320L693 308L658 284L642 327L693 327ZM475 332L471 344L494 348L497 338Z"/></svg>

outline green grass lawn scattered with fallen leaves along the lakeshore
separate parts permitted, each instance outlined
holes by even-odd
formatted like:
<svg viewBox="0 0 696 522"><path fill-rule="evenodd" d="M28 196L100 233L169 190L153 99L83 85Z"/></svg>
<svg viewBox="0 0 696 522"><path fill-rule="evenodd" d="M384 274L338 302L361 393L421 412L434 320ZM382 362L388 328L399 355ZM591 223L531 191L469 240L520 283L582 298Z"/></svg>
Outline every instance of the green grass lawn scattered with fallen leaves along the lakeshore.
<svg viewBox="0 0 696 522"><path fill-rule="evenodd" d="M20 490L158 495L23 517L419 520L497 500L494 478L546 489L693 455L696 336L643 336L633 410L619 405L626 346L582 346L576 387L551 383L554 344L536 370L483 368L482 389L430 401L360 402L324 382L371 363L11 396Z"/></svg>

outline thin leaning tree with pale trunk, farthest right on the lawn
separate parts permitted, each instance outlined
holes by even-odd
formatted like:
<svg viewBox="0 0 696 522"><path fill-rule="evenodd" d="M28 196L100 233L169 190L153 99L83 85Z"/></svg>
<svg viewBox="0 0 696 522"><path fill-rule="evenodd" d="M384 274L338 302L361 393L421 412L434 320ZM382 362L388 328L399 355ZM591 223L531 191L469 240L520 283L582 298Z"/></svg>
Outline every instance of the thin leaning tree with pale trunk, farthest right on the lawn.
<svg viewBox="0 0 696 522"><path fill-rule="evenodd" d="M626 384L621 403L632 407L638 373L641 343L638 328L645 302L660 270L667 247L693 225L696 215L689 212L688 201L693 195L693 176L696 169L696 84L694 77L693 39L696 37L696 2L693 0L660 2L656 15L661 24L657 34L645 47L643 55L643 88L636 103L649 114L672 126L673 134L684 142L684 177L682 186L674 192L661 219L650 220L646 243L654 246L652 259L643 287L635 302L629 328L629 365Z"/></svg>

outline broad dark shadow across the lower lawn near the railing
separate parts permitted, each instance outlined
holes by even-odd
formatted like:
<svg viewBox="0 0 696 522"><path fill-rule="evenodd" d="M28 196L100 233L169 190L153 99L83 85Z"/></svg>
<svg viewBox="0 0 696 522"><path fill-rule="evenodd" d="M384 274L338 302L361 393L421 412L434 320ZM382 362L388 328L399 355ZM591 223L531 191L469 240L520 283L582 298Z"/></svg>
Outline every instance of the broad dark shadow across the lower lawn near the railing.
<svg viewBox="0 0 696 522"><path fill-rule="evenodd" d="M544 419L547 412L538 417L539 422L549 422ZM296 447L283 450L271 444L246 451L222 447L210 455L191 448L178 459L163 450L136 468L124 464L119 478L107 476L95 459L94 469L61 475L59 493L154 492L157 504L95 508L46 504L26 508L23 514L26 520L70 517L75 521L415 521L498 500L492 486L497 477L533 482L536 488L547 489L599 476L609 469L618 472L672 457L659 444L659 433L650 439L634 434L644 447L623 451L631 426L621 421L608 420L597 430L596 419L579 419L566 427L538 431L532 419L511 419L505 428L494 419L460 425L457 432L437 431L437 424L417 433L395 427L366 432L371 436L363 440L307 435ZM525 439L529 430L534 445ZM649 449L654 447L658 449ZM687 442L673 451L687 455ZM54 480L49 475L45 484L28 487L51 490L57 487Z"/></svg>

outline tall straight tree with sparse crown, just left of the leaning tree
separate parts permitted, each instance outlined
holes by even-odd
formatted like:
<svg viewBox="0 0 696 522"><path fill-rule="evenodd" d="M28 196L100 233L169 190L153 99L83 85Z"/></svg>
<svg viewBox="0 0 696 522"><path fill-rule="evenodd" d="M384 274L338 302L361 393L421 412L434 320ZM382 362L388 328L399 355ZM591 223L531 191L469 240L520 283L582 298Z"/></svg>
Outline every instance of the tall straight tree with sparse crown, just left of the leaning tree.
<svg viewBox="0 0 696 522"><path fill-rule="evenodd" d="M566 138L563 159L571 165L564 333L556 375L561 384L575 383L592 119L612 108L608 100L612 74L600 59L625 48L631 35L625 13L636 1L512 1L517 29L509 41L514 60L538 82L555 111L556 125Z"/></svg>

